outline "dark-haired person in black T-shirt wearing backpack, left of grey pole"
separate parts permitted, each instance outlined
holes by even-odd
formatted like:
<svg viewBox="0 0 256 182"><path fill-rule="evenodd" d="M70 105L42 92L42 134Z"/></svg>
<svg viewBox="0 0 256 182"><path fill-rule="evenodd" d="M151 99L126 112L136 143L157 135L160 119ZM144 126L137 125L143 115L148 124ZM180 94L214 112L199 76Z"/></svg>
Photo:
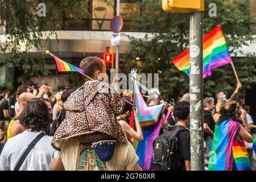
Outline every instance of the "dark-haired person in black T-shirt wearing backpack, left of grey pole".
<svg viewBox="0 0 256 182"><path fill-rule="evenodd" d="M181 164L181 171L191 171L191 153L190 153L190 132L187 129L189 120L189 102L181 101L174 106L174 115L178 121L175 126L172 126L172 130L182 130L177 134L177 144L179 151L179 160Z"/></svg>

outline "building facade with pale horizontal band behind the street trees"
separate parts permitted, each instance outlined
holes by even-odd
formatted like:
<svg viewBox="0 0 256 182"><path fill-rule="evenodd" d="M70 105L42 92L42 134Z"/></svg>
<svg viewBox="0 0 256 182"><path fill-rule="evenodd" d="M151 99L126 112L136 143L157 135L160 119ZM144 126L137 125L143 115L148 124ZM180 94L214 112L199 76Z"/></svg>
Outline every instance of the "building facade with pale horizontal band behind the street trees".
<svg viewBox="0 0 256 182"><path fill-rule="evenodd" d="M111 0L113 5L116 7L116 0ZM88 4L85 5L88 11L92 15L91 18L86 18L85 15L79 14L76 18L70 17L68 13L63 14L63 18L54 19L56 22L56 34L51 36L47 49L53 54L60 57L64 61L68 61L71 64L79 65L80 61L87 56L98 56L103 58L106 52L106 47L110 46L110 39L112 32L110 31L110 21L113 16L116 15L115 9L112 6L106 5L102 0L90 0L86 1ZM256 1L252 0L253 9L251 15L255 16L256 13ZM139 18L142 13L141 7L136 3L135 0L120 0L120 15L123 18L123 29L122 33L137 38L143 38L145 33L138 32L136 28L132 26L132 21ZM2 34L2 35L1 35ZM0 28L0 39L1 36L5 35L5 31ZM245 53L256 52L253 49L256 44L243 47ZM121 36L121 46L119 47L119 53L122 54L129 51L130 43L126 36ZM31 77L31 80L40 84L48 82L53 89L58 89L61 86L67 86L76 80L73 77L73 73L70 72L57 72L55 61L51 56L44 53L46 49L32 49L30 56L33 59L43 56L46 62L46 68L49 71L48 76L42 77ZM242 55L238 55L242 56ZM31 69L36 65L31 65ZM108 73L111 65L107 65ZM15 73L15 75L14 75ZM11 78L15 77L17 82L22 81L22 72L14 70L13 67L8 65L2 65L0 68L0 84ZM72 76L71 76L72 75ZM73 80L72 80L73 79ZM81 79L81 77L79 77Z"/></svg>

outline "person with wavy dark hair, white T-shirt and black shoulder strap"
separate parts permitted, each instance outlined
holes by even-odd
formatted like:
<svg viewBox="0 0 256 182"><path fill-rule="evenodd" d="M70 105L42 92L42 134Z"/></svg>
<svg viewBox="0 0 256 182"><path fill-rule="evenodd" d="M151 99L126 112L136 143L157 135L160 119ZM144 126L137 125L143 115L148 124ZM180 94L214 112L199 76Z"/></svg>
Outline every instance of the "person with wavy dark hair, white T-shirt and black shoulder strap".
<svg viewBox="0 0 256 182"><path fill-rule="evenodd" d="M48 170L55 150L51 146L52 137L44 134L51 121L47 105L39 98L28 101L19 115L19 120L25 131L7 140L0 156L0 171L13 171L24 151L38 136L42 138L32 147L18 170Z"/></svg>

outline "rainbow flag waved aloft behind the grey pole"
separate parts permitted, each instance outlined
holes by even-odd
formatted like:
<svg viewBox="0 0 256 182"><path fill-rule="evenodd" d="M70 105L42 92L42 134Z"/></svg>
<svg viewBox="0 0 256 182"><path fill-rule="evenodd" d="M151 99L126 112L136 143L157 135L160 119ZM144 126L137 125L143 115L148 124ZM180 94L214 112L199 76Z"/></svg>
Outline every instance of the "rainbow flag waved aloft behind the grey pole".
<svg viewBox="0 0 256 182"><path fill-rule="evenodd" d="M193 61L193 60L192 60ZM212 75L212 70L232 62L226 40L218 24L203 38L203 77ZM189 76L189 48L176 56L172 63Z"/></svg>

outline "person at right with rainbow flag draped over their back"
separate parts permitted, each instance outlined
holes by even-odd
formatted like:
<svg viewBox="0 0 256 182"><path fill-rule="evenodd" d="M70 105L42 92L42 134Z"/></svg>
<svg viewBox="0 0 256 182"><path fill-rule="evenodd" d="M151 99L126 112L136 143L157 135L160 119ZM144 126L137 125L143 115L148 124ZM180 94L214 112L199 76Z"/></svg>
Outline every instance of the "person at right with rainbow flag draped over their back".
<svg viewBox="0 0 256 182"><path fill-rule="evenodd" d="M240 103L237 101L230 100L221 107L214 129L209 171L251 170L243 140L253 142L253 137L238 120L240 115Z"/></svg>

